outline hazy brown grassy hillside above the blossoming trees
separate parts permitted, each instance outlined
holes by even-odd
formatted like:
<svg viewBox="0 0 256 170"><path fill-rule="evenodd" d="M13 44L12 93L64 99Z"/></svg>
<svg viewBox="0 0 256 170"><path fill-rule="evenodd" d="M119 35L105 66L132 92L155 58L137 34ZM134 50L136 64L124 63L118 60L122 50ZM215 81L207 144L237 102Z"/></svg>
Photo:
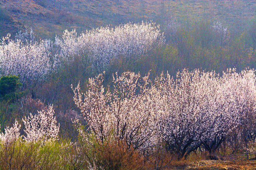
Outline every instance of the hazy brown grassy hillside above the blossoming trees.
<svg viewBox="0 0 256 170"><path fill-rule="evenodd" d="M54 38L65 29L77 32L100 26L153 20L162 27L201 18L225 20L242 28L255 16L254 0L2 0L0 37L32 27L38 38ZM240 22L236 22L236 21Z"/></svg>

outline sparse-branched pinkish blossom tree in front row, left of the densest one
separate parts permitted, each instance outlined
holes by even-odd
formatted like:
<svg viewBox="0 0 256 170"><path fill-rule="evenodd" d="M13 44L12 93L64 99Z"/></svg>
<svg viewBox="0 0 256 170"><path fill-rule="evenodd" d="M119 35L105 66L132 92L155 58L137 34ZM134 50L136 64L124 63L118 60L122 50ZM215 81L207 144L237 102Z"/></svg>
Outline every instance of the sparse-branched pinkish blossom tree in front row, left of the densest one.
<svg viewBox="0 0 256 170"><path fill-rule="evenodd" d="M98 139L114 135L129 146L148 147L155 128L148 76L141 78L132 72L113 76L113 91L102 86L102 74L89 79L85 94L80 92L80 84L72 86L75 104Z"/></svg>

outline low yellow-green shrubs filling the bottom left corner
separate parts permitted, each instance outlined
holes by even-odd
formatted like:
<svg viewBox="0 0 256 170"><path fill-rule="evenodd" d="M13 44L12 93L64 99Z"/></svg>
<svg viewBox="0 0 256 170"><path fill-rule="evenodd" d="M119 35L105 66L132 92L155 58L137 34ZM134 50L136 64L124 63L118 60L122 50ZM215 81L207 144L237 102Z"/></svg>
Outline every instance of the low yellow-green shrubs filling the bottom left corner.
<svg viewBox="0 0 256 170"><path fill-rule="evenodd" d="M0 170L86 170L80 154L80 149L70 141L0 141Z"/></svg>

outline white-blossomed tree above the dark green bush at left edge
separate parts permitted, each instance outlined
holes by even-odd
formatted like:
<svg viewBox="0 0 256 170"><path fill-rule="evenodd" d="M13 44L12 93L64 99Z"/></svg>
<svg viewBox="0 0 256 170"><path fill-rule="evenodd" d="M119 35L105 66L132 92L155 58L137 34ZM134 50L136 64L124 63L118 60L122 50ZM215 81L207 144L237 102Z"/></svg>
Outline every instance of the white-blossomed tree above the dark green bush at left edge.
<svg viewBox="0 0 256 170"><path fill-rule="evenodd" d="M52 41L23 43L9 37L4 37L0 43L0 75L19 75L20 82L27 86L44 79L55 63L50 59Z"/></svg>

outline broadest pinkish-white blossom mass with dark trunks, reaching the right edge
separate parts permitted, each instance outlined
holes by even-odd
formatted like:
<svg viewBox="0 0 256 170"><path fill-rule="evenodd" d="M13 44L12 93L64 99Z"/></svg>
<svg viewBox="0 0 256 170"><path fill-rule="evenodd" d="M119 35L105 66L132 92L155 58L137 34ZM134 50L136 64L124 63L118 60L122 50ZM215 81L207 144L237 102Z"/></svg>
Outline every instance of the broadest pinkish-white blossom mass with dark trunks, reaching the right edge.
<svg viewBox="0 0 256 170"><path fill-rule="evenodd" d="M220 77L215 72L184 69L175 80L162 74L151 88L160 134L156 138L180 156L201 144L216 150L241 125L245 113L255 110L255 80L254 70L230 69Z"/></svg>

